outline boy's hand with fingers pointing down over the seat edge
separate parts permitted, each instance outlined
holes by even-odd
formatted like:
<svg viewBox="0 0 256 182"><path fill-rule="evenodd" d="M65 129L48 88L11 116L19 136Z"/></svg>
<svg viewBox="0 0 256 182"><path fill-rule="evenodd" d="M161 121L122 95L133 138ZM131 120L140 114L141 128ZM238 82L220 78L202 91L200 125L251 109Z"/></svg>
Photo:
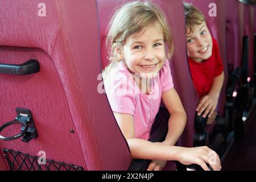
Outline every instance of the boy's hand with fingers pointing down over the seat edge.
<svg viewBox="0 0 256 182"><path fill-rule="evenodd" d="M218 96L212 96L210 94L205 95L201 98L199 104L196 107L197 115L201 115L204 111L203 117L205 118L209 113L210 118L216 109L218 104Z"/></svg>

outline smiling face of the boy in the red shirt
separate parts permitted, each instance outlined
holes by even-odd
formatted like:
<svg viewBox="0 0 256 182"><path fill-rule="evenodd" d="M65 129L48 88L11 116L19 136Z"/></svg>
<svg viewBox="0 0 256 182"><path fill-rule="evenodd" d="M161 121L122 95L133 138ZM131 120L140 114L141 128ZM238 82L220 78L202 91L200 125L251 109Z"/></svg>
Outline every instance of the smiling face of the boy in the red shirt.
<svg viewBox="0 0 256 182"><path fill-rule="evenodd" d="M212 36L205 21L192 31L187 30L187 53L188 57L199 63L212 56Z"/></svg>

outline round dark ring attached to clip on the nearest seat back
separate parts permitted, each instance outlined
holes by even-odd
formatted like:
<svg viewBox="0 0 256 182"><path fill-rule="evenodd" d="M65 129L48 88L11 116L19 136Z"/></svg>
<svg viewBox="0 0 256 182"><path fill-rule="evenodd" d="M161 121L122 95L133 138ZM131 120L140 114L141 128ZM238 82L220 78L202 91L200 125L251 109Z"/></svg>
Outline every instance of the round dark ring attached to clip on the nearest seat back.
<svg viewBox="0 0 256 182"><path fill-rule="evenodd" d="M27 122L24 122L24 121L18 121L18 120L14 120L14 121L10 121L10 122L7 122L5 124L3 124L1 127L0 127L0 133L3 129L5 129L7 126L11 126L11 125L16 125L16 124L24 124L25 126L25 129L17 134L17 135L14 135L12 137L3 137L2 135L0 135L0 139L1 140L5 140L5 141L10 141L10 140L15 140L15 139L18 139L20 137L22 137L26 132L27 132L27 129L28 129L28 123Z"/></svg>

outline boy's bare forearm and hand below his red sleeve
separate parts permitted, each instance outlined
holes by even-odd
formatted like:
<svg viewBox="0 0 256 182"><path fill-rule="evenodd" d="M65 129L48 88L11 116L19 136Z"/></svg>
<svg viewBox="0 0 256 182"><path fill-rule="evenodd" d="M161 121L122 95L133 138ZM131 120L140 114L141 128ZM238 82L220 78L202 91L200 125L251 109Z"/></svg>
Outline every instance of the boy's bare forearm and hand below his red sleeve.
<svg viewBox="0 0 256 182"><path fill-rule="evenodd" d="M199 105L196 108L196 110L198 111L198 115L201 115L201 113L203 113L204 110L204 118L207 116L208 113L208 117L210 117L213 114L218 104L218 97L220 96L223 82L224 72L222 72L221 75L214 77L212 88L210 89L207 95L201 98Z"/></svg>

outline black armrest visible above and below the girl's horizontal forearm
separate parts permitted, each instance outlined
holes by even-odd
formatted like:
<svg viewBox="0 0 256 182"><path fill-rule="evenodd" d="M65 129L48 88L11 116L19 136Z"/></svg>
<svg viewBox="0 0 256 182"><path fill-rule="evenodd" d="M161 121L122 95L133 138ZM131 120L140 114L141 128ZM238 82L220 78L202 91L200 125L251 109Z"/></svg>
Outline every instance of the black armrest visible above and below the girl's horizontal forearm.
<svg viewBox="0 0 256 182"><path fill-rule="evenodd" d="M150 142L163 142L166 138L168 131L168 121L170 114L167 109L160 108L156 115L155 123L159 123L159 127L154 131L151 137L148 139ZM134 159L131 162L129 171L146 171L151 160Z"/></svg>

